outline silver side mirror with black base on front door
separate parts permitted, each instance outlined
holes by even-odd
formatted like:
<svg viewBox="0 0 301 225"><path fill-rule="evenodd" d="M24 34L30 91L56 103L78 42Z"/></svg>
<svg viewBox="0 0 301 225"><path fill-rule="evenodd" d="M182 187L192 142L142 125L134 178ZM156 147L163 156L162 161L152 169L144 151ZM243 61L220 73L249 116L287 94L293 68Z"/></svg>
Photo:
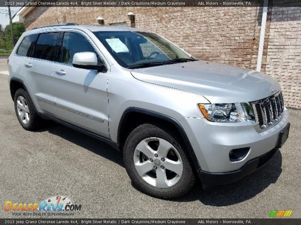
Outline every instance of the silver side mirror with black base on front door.
<svg viewBox="0 0 301 225"><path fill-rule="evenodd" d="M103 71L105 66L99 65L95 53L81 52L75 53L72 60L72 65L76 68Z"/></svg>

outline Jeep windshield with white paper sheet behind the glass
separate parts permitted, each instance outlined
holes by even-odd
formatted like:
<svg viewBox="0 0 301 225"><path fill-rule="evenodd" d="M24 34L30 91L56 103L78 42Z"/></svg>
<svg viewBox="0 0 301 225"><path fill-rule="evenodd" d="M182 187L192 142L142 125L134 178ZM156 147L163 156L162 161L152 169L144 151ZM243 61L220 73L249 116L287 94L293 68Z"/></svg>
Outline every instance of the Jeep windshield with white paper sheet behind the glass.
<svg viewBox="0 0 301 225"><path fill-rule="evenodd" d="M93 32L114 59L125 68L195 61L171 42L151 32Z"/></svg>

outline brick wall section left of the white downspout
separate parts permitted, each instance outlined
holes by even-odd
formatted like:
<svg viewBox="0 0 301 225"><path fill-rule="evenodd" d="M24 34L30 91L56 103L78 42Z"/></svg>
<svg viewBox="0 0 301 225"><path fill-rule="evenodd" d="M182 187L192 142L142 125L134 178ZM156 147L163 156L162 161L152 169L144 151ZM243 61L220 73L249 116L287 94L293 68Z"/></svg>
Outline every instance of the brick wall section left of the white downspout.
<svg viewBox="0 0 301 225"><path fill-rule="evenodd" d="M85 7L35 8L26 16L25 27L76 22L105 25L127 22L135 13L136 27L157 32L203 60L256 68L260 26L259 8L188 7ZM181 31L181 32L179 32Z"/></svg>

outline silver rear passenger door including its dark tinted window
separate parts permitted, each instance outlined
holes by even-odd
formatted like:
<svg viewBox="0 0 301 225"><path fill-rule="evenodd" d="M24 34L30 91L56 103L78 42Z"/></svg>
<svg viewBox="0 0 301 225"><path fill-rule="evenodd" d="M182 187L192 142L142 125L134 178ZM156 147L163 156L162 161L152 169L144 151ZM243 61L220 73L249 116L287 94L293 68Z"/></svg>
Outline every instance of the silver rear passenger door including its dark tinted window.
<svg viewBox="0 0 301 225"><path fill-rule="evenodd" d="M60 32L40 33L31 53L23 60L22 76L25 77L31 97L38 110L50 115L56 114L55 79L52 72L57 57Z"/></svg>

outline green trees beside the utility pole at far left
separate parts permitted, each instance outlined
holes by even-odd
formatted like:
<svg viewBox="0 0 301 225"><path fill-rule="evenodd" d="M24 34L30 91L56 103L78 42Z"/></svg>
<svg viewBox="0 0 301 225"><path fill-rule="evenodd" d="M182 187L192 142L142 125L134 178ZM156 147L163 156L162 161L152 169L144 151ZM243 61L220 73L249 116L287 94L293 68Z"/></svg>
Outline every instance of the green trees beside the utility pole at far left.
<svg viewBox="0 0 301 225"><path fill-rule="evenodd" d="M13 23L13 33L15 36L15 43L18 41L22 33L25 31L24 23ZM8 24L3 30L0 26L0 49L12 50L12 38L10 32L10 25Z"/></svg>

